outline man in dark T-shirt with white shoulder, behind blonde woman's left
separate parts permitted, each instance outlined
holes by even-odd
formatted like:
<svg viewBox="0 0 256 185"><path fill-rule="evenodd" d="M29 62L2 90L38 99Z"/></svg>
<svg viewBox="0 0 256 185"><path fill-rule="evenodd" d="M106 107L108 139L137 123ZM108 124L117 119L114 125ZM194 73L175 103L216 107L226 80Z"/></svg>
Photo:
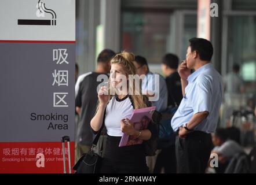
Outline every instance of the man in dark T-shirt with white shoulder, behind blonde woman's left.
<svg viewBox="0 0 256 185"><path fill-rule="evenodd" d="M108 75L111 65L110 60L115 52L105 49L98 54L96 72L88 72L80 75L75 85L75 106L79 114L78 126L76 129L75 161L83 153L87 153L92 147L93 133L90 128L97 107L97 82L98 75Z"/></svg>

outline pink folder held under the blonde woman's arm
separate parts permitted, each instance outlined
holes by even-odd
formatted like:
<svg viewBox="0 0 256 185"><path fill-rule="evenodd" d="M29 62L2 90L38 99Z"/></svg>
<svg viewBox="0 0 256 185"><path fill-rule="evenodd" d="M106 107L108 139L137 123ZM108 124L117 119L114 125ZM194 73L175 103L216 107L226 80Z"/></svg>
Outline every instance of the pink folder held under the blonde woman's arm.
<svg viewBox="0 0 256 185"><path fill-rule="evenodd" d="M151 106L149 108L135 109L130 117L130 121L134 124L134 128L137 130L147 129L149 121L152 118L153 111L155 109L155 106ZM143 140L136 137L137 136L131 136L123 133L123 136L119 143L119 147L141 144Z"/></svg>

